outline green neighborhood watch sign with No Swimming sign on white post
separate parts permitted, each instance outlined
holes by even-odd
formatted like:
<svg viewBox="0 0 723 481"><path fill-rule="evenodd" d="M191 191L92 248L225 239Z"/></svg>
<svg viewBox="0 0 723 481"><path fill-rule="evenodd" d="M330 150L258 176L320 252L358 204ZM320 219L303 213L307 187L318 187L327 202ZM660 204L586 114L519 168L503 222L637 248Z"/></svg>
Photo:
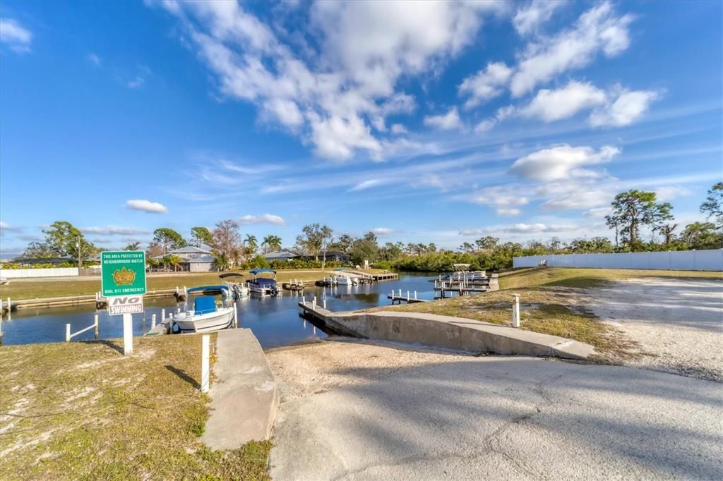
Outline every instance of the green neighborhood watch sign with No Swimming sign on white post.
<svg viewBox="0 0 723 481"><path fill-rule="evenodd" d="M133 314L143 312L146 292L145 252L100 253L100 287L108 298L108 315L123 316L123 353L133 354Z"/></svg>

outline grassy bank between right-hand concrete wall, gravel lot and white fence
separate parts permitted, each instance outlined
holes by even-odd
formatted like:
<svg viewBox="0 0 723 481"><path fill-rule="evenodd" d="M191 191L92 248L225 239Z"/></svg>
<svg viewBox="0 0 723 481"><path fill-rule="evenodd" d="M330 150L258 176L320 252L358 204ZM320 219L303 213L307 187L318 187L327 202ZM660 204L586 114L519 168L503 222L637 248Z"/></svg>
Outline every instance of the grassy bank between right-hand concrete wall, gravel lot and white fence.
<svg viewBox="0 0 723 481"><path fill-rule="evenodd" d="M500 290L492 293L435 300L377 310L434 313L492 324L511 325L512 294L520 295L520 327L575 339L592 345L602 355L630 357L637 345L586 309L583 296L596 287L632 277L717 278L721 272L652 271L634 269L514 269L500 274Z"/></svg>

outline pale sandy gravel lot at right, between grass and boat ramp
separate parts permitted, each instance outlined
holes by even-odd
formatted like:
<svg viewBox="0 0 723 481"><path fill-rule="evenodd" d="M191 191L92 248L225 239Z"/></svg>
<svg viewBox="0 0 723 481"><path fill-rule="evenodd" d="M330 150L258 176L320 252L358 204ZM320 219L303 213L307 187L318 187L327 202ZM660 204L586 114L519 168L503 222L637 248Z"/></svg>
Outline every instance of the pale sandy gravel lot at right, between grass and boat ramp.
<svg viewBox="0 0 723 481"><path fill-rule="evenodd" d="M625 365L723 382L723 281L625 280L589 303L641 345L643 355Z"/></svg>

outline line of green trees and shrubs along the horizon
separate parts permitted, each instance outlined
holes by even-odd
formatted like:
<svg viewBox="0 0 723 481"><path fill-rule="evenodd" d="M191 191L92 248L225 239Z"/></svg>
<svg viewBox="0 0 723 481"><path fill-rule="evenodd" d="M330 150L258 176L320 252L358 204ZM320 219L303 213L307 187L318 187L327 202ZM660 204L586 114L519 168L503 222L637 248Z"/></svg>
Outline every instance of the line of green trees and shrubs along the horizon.
<svg viewBox="0 0 723 481"><path fill-rule="evenodd" d="M376 267L411 271L437 271L450 269L451 264L472 264L475 269L505 269L512 266L515 256L544 254L589 254L638 251L674 251L688 249L723 248L723 182L716 183L700 206L704 220L679 225L672 215L672 206L658 202L654 192L630 190L617 194L611 212L605 221L614 233L612 240L604 236L575 238L563 242L559 238L548 241L531 240L526 243L500 242L487 235L474 242L464 242L455 250L437 248L435 243L391 243L380 245L373 232L354 237L343 233L336 237L328 225L305 225L296 236L296 251L313 258L309 261L278 261L268 263L261 254L282 248L278 235L266 235L261 243L252 234L241 235L235 220L221 220L213 229L197 226L184 238L171 228L158 228L146 248L149 264L160 264L176 269L179 256L172 251L186 246L208 246L217 269L232 267L320 267L325 253L342 252L351 264L368 260ZM651 235L643 239L647 229ZM43 241L30 243L26 258L46 259L67 256L69 265L97 256L103 249L87 241L85 235L70 222L56 221L43 230ZM140 243L130 243L126 250L140 249ZM155 260L160 258L161 260ZM331 267L331 264L329 264Z"/></svg>

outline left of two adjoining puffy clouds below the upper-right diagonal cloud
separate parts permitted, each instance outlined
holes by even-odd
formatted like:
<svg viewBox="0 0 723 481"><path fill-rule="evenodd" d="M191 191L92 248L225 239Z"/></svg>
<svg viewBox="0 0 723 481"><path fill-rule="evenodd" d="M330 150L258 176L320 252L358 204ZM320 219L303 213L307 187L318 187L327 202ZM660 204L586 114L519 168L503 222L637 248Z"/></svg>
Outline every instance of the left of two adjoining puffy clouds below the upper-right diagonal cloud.
<svg viewBox="0 0 723 481"><path fill-rule="evenodd" d="M593 84L571 81L557 90L539 90L529 105L520 110L520 114L551 122L571 117L579 110L602 105L605 100L605 92Z"/></svg>

